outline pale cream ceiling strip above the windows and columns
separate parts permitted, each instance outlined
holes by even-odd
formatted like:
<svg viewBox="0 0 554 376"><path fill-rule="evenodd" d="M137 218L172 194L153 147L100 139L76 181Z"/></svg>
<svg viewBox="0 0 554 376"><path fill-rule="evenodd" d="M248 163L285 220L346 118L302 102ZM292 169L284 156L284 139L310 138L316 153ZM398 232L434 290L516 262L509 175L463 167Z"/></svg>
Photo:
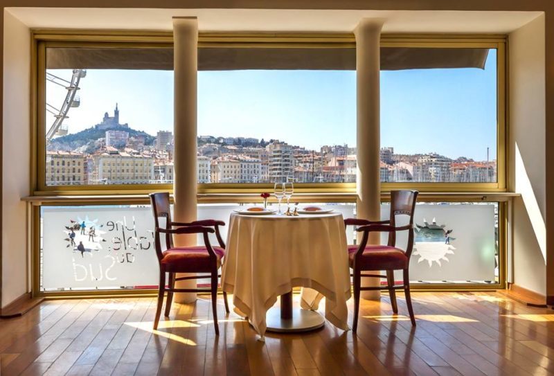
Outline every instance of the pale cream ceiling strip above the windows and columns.
<svg viewBox="0 0 554 376"><path fill-rule="evenodd" d="M359 19L386 19L383 33L510 33L542 12L445 10L277 10L6 8L30 28L172 30L172 17L196 16L199 30L350 33Z"/></svg>

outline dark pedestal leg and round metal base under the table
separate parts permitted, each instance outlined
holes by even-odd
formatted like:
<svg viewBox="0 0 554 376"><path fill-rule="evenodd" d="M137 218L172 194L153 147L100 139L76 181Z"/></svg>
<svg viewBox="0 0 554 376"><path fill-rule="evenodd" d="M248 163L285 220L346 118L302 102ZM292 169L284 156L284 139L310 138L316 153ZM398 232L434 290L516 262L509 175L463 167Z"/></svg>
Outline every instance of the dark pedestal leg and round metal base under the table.
<svg viewBox="0 0 554 376"><path fill-rule="evenodd" d="M268 332L308 332L325 325L325 318L316 311L293 309L292 292L280 296L281 307L267 311L265 321Z"/></svg>

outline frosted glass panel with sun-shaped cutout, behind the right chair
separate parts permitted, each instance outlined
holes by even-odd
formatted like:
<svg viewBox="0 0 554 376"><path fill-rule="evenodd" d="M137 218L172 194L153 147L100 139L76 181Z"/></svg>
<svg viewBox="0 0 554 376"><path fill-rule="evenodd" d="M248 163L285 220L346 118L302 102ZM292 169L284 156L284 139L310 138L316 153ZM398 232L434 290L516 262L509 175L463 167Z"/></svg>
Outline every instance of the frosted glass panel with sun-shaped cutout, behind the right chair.
<svg viewBox="0 0 554 376"><path fill-rule="evenodd" d="M497 266L497 204L442 203L415 207L415 245L410 278L415 281L494 281ZM388 204L381 216L388 219ZM403 217L403 218L402 218ZM398 216L400 225L406 216ZM407 231L398 233L404 249ZM386 234L382 235L386 244ZM400 279L402 274L397 274Z"/></svg>

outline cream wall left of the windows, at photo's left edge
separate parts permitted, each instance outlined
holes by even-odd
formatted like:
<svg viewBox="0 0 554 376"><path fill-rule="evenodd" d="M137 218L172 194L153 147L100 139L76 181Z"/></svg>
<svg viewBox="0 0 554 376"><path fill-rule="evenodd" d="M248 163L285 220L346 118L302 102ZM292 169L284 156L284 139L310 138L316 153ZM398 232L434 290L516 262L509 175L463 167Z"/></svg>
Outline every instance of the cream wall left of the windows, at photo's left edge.
<svg viewBox="0 0 554 376"><path fill-rule="evenodd" d="M30 30L4 12L2 145L2 299L5 307L28 292Z"/></svg>

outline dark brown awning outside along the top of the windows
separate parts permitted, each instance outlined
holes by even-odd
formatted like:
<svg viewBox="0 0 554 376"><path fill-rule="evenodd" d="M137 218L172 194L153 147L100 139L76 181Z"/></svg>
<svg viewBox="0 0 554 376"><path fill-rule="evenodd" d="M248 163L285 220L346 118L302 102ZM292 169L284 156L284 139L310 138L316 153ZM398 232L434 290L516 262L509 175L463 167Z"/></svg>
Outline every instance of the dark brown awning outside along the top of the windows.
<svg viewBox="0 0 554 376"><path fill-rule="evenodd" d="M381 48L381 69L485 67L488 48ZM171 48L47 48L46 69L172 70ZM199 71L244 69L355 70L355 48L198 49Z"/></svg>

